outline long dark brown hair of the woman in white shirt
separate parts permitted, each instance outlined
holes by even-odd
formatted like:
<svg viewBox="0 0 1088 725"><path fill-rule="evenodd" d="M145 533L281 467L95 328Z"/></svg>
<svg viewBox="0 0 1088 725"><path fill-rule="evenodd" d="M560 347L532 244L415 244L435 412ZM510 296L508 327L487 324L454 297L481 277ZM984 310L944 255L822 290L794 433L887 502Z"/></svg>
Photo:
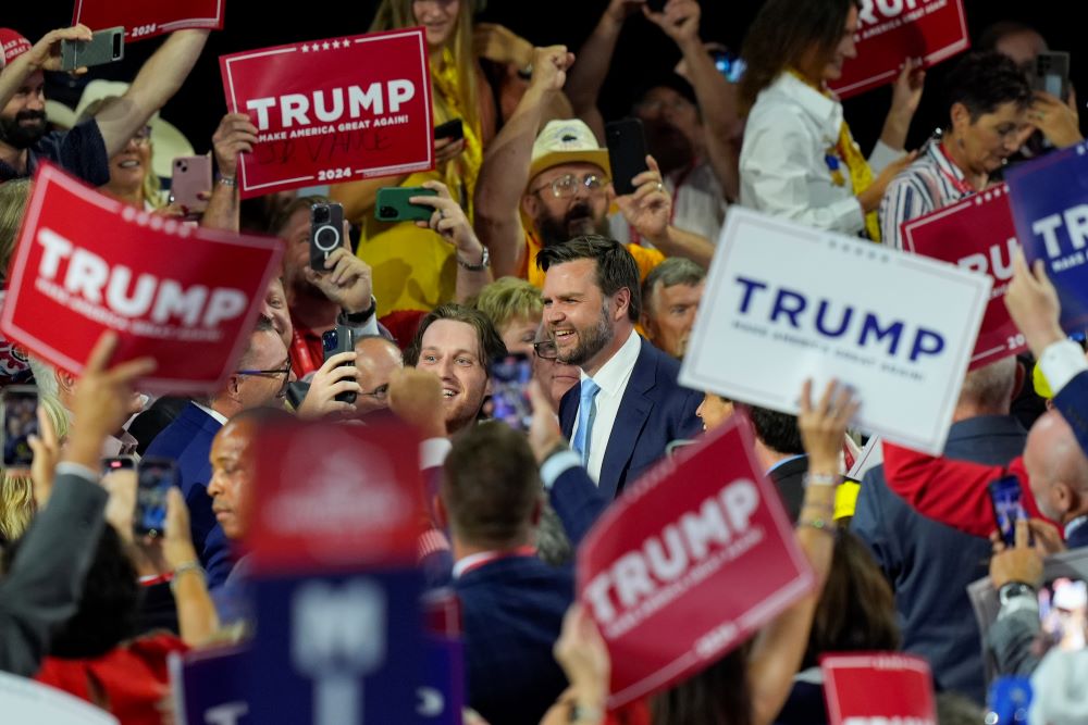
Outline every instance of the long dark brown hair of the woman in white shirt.
<svg viewBox="0 0 1088 725"><path fill-rule="evenodd" d="M842 39L850 9L860 5L858 0L767 0L741 49L747 63L738 86L741 113L746 115L759 91L812 49L829 55Z"/></svg>

